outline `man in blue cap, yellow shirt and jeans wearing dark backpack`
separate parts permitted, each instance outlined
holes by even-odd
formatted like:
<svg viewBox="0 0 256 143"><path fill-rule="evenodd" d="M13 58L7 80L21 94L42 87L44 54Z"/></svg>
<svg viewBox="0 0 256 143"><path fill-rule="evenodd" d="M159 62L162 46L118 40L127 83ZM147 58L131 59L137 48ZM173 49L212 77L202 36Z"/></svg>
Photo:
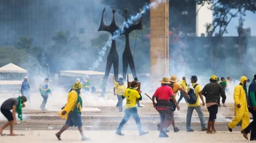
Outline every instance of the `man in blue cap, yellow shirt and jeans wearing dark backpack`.
<svg viewBox="0 0 256 143"><path fill-rule="evenodd" d="M188 110L187 110L187 131L192 132L194 130L191 129L191 118L192 118L192 113L193 110L195 109L201 123L201 131L207 131L206 126L205 126L205 120L204 120L204 115L199 103L199 98L202 100L202 106L205 105L203 95L201 94L202 87L200 84L197 84L197 76L192 76L191 77L191 84L188 86L188 92L189 90L194 90L194 93L196 95L196 103L190 104L188 103Z"/></svg>

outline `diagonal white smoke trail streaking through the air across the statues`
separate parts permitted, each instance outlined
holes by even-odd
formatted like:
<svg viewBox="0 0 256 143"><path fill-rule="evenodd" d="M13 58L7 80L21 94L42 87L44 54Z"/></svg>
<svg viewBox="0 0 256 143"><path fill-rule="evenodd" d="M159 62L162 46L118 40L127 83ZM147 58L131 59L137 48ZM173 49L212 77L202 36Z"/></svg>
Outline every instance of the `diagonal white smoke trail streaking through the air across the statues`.
<svg viewBox="0 0 256 143"><path fill-rule="evenodd" d="M136 15L132 15L127 21L124 21L123 24L120 26L120 28L116 30L113 35L108 36L108 40L105 46L102 47L102 49L99 52L98 59L94 62L93 66L90 67L89 69L95 70L95 68L99 66L100 62L103 61L103 56L106 54L107 47L111 47L112 40L115 40L116 38L118 38L124 32L124 28L129 28L130 25L132 25L135 21L139 20L142 17L142 14L146 13L150 8L155 9L159 4L165 3L166 1L167 0L156 0L150 4L146 3L142 7L140 12L138 12Z"/></svg>

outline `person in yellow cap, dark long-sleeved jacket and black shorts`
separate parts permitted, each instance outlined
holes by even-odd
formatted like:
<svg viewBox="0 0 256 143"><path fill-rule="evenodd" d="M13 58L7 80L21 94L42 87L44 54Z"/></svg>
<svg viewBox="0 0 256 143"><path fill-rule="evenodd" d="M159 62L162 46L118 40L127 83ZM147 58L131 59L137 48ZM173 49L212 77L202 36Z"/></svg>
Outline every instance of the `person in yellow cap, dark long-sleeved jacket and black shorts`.
<svg viewBox="0 0 256 143"><path fill-rule="evenodd" d="M210 114L206 133L215 133L214 123L218 113L219 98L220 96L222 97L222 103L224 104L226 100L225 92L222 86L217 82L217 77L213 75L210 78L210 83L203 87L201 93L205 96L206 107Z"/></svg>

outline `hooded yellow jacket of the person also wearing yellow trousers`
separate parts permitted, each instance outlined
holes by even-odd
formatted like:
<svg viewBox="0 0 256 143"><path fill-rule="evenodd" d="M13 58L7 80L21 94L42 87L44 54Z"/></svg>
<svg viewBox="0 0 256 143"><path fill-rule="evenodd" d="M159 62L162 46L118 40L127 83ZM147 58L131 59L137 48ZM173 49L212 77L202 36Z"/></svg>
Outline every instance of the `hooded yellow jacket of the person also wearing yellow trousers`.
<svg viewBox="0 0 256 143"><path fill-rule="evenodd" d="M243 77L241 77L240 82L243 84L243 82L246 80L247 80L247 78L243 76ZM243 89L243 86L240 84L235 86L234 101L235 101L235 107L237 104L240 104L241 108L247 107L246 94Z"/></svg>

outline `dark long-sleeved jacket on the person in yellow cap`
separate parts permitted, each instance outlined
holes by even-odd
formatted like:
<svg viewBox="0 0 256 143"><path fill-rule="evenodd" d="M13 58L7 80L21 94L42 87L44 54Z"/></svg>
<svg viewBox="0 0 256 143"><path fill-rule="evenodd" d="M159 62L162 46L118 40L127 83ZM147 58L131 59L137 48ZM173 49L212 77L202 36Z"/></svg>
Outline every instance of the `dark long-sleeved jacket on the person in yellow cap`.
<svg viewBox="0 0 256 143"><path fill-rule="evenodd" d="M219 97L222 97L222 103L225 103L226 95L222 86L217 82L211 82L203 87L202 95L205 96L206 103L219 103Z"/></svg>

